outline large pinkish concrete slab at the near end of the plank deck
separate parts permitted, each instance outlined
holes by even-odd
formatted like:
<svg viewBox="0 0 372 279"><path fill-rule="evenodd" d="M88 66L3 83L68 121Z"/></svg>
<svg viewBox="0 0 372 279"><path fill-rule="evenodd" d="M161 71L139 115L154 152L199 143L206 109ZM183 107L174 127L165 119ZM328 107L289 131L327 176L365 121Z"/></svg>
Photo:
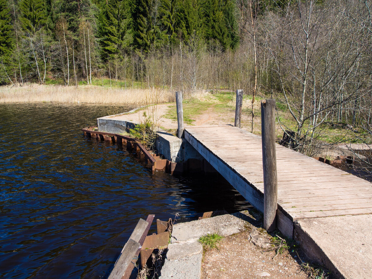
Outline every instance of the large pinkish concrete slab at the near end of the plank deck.
<svg viewBox="0 0 372 279"><path fill-rule="evenodd" d="M372 278L372 215L302 219L295 239L340 278Z"/></svg>

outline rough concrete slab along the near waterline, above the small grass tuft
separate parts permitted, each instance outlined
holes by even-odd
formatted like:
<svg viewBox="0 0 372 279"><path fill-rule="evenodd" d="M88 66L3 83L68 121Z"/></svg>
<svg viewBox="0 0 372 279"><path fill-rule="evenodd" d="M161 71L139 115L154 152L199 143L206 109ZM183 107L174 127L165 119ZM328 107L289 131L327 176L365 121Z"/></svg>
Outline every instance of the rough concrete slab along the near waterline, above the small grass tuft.
<svg viewBox="0 0 372 279"><path fill-rule="evenodd" d="M244 226L247 224L248 222L244 221L244 219L230 214L175 224L171 241L174 243L177 241L197 240L202 235L213 233L224 236L236 234L244 230Z"/></svg>

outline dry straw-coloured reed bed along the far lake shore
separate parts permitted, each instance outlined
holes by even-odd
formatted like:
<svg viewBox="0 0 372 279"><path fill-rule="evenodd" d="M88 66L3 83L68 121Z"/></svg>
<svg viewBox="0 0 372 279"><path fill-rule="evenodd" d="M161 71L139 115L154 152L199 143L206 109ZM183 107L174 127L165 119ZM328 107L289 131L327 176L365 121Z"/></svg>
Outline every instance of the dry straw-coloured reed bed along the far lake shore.
<svg viewBox="0 0 372 279"><path fill-rule="evenodd" d="M0 87L0 103L93 103L151 104L174 102L169 91L161 89L118 89L100 86L53 86L31 84Z"/></svg>

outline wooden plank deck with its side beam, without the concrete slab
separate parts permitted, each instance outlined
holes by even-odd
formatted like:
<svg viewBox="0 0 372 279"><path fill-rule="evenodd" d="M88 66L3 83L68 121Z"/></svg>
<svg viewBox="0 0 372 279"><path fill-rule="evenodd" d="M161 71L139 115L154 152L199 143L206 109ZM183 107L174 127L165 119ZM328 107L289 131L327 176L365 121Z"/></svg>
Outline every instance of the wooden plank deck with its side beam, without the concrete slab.
<svg viewBox="0 0 372 279"><path fill-rule="evenodd" d="M188 127L185 138L254 207L263 211L261 137L233 126ZM372 183L276 144L278 227L299 219L372 213Z"/></svg>

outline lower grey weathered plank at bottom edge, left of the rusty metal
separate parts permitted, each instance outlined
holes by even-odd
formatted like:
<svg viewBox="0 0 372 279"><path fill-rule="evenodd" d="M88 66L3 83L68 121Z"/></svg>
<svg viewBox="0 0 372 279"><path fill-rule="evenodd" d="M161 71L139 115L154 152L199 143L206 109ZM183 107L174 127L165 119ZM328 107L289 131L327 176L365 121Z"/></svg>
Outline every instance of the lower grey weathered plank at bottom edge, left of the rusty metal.
<svg viewBox="0 0 372 279"><path fill-rule="evenodd" d="M119 256L114 268L112 269L108 279L121 279L124 275L129 263L132 261L134 254L140 248L140 243L129 238L125 244L122 253Z"/></svg>

